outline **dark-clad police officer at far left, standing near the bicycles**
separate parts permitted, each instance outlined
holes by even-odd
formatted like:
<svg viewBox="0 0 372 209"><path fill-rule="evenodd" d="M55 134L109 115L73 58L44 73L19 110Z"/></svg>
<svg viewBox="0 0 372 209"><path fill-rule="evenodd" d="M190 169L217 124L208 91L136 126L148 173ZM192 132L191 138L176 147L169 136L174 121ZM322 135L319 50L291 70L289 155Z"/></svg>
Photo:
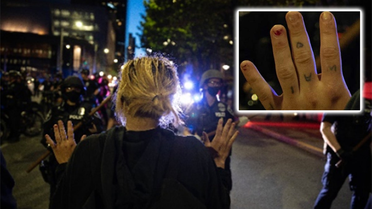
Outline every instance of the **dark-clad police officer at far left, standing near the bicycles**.
<svg viewBox="0 0 372 209"><path fill-rule="evenodd" d="M9 71L9 86L4 92L5 112L9 115L10 135L9 141L19 141L19 124L21 112L25 110L27 104L31 103L31 91L22 83L22 74L16 70Z"/></svg>

